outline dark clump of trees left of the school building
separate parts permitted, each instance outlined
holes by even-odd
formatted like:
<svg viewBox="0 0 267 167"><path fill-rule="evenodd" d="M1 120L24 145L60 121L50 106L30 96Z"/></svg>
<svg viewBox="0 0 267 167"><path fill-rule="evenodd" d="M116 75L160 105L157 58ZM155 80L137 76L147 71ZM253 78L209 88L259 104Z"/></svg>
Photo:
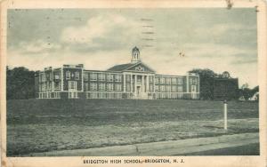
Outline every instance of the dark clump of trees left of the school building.
<svg viewBox="0 0 267 167"><path fill-rule="evenodd" d="M6 99L31 99L35 97L35 71L28 68L6 67Z"/></svg>

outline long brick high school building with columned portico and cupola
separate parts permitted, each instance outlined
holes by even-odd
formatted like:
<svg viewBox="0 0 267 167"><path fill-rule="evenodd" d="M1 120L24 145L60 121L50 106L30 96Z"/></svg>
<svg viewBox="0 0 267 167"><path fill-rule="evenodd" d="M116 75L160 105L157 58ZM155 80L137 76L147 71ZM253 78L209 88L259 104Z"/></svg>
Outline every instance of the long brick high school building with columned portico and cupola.
<svg viewBox="0 0 267 167"><path fill-rule="evenodd" d="M87 70L82 64L44 68L36 75L36 98L198 99L199 76L158 75L134 47L130 63L105 71Z"/></svg>

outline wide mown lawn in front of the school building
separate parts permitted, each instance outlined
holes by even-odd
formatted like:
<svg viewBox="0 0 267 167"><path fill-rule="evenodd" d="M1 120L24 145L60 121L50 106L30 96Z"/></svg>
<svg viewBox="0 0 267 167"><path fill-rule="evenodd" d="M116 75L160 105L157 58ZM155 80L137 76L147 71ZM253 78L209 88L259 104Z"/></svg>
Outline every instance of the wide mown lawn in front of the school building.
<svg viewBox="0 0 267 167"><path fill-rule="evenodd" d="M258 103L202 100L7 101L7 155L258 132Z"/></svg>

